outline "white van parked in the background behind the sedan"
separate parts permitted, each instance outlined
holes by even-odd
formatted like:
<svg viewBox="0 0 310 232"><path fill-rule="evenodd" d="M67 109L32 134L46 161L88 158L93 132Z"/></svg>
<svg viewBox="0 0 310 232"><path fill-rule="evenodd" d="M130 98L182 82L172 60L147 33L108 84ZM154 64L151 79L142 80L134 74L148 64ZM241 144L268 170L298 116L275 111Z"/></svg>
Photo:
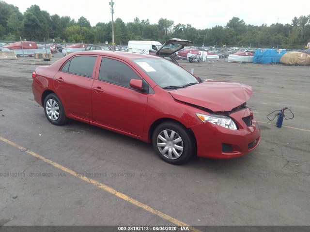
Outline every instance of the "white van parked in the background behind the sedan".
<svg viewBox="0 0 310 232"><path fill-rule="evenodd" d="M158 51L162 46L158 41L141 41L141 40L130 40L128 41L128 52L138 52L149 54L150 50Z"/></svg>

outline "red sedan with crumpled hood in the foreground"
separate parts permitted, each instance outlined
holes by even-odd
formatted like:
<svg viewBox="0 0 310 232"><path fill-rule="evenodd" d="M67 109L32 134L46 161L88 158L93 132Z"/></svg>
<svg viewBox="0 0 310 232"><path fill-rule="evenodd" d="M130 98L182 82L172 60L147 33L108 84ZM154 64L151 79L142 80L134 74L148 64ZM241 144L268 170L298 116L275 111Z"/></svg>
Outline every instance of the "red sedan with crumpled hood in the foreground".
<svg viewBox="0 0 310 232"><path fill-rule="evenodd" d="M164 58L75 52L32 78L34 100L52 124L72 118L153 143L172 164L240 157L260 143L249 86L202 81Z"/></svg>

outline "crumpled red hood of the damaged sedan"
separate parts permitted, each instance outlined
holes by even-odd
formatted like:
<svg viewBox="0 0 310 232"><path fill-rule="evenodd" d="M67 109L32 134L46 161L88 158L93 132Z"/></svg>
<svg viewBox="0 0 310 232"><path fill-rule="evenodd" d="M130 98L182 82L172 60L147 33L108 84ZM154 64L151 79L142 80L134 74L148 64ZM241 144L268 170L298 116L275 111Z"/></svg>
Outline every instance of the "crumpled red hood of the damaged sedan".
<svg viewBox="0 0 310 232"><path fill-rule="evenodd" d="M231 111L248 101L252 95L250 86L220 81L205 81L186 88L170 91L176 100L202 106L212 111Z"/></svg>

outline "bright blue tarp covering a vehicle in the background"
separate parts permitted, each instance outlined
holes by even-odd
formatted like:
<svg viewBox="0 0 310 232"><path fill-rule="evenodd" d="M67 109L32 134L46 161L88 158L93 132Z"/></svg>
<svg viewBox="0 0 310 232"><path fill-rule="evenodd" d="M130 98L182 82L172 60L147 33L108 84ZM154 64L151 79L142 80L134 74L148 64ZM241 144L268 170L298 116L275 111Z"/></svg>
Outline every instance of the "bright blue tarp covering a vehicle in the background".
<svg viewBox="0 0 310 232"><path fill-rule="evenodd" d="M259 49L256 50L253 57L254 64L280 63L280 58L286 53L283 50Z"/></svg>

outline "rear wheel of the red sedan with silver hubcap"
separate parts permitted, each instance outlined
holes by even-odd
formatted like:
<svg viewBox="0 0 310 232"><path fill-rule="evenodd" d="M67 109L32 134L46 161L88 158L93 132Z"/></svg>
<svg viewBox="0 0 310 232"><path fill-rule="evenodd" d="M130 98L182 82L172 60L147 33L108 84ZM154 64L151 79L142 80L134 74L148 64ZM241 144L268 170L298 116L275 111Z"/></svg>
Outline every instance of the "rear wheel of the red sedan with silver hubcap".
<svg viewBox="0 0 310 232"><path fill-rule="evenodd" d="M44 113L48 121L53 124L60 126L68 121L64 113L62 102L59 100L56 94L48 94L44 100Z"/></svg>

